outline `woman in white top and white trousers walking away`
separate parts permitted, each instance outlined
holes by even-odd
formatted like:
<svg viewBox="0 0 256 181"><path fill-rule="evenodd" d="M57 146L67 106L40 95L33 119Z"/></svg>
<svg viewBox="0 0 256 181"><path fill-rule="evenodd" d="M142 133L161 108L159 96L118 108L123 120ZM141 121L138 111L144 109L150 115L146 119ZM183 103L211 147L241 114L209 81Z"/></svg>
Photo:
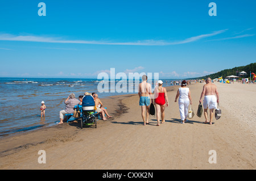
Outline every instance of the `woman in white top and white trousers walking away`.
<svg viewBox="0 0 256 181"><path fill-rule="evenodd" d="M182 124L184 124L187 121L189 100L190 100L190 104L192 104L190 90L186 86L187 86L187 82L185 80L182 81L181 87L177 90L177 95L175 98L175 102L177 102L177 98L180 96L179 109L180 109L180 119Z"/></svg>

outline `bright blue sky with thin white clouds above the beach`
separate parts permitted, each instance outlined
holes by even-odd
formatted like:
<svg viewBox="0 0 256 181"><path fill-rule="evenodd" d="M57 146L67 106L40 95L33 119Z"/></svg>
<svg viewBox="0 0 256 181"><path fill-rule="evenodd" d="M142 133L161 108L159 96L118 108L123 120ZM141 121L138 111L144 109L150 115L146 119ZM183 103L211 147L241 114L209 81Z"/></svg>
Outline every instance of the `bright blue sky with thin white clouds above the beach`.
<svg viewBox="0 0 256 181"><path fill-rule="evenodd" d="M46 16L39 16L39 2ZM209 16L210 2L217 16ZM0 77L192 78L256 56L256 1L1 1Z"/></svg>

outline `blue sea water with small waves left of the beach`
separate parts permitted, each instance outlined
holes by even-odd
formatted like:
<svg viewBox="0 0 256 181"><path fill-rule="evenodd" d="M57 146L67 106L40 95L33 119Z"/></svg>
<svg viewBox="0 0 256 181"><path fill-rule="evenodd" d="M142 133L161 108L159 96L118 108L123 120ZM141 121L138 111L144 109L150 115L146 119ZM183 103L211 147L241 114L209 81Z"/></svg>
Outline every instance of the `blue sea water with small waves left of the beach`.
<svg viewBox="0 0 256 181"><path fill-rule="evenodd" d="M163 86L171 86L174 79L162 81ZM114 82L116 85L118 80ZM71 93L74 93L77 99L79 95L84 95L84 92L96 92L99 98L137 94L135 81L127 81L126 92L99 92L99 83L102 82L97 79L79 78L0 78L0 137L56 125L59 112L65 109L64 101ZM129 86L134 86L132 92L128 92ZM40 115L42 101L47 107L45 117Z"/></svg>

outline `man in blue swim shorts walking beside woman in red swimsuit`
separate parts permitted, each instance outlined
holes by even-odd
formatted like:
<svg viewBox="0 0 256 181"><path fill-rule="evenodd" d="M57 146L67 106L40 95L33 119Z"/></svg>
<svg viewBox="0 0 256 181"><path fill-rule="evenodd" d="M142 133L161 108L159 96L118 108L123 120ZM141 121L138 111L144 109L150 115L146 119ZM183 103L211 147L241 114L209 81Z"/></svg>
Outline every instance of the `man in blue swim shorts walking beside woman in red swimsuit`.
<svg viewBox="0 0 256 181"><path fill-rule="evenodd" d="M141 106L141 115L144 125L148 124L149 108L150 108L150 95L151 85L147 83L147 75L142 76L142 82L139 83L139 106ZM146 119L145 119L146 112Z"/></svg>

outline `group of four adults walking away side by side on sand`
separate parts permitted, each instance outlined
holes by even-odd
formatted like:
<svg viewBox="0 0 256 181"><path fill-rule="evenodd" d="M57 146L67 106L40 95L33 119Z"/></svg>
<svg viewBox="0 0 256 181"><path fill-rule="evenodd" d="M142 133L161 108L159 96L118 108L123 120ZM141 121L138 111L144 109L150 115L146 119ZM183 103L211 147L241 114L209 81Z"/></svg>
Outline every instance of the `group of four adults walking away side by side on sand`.
<svg viewBox="0 0 256 181"><path fill-rule="evenodd" d="M202 102L204 96L204 116L205 122L212 124L213 119L213 111L217 108L217 103L219 102L219 96L216 85L212 83L210 78L205 80L205 85L203 86L203 91L201 92L199 103ZM163 81L158 81L158 85L155 86L154 93L151 93L151 85L147 83L147 76L142 76L142 82L139 84L139 106L142 108L142 119L144 125L148 123L149 117L149 108L150 108L150 99L151 103L155 104L156 110L156 120L157 126L160 125L160 119L162 123L165 122L164 120L164 110L168 107L168 96L167 90L163 87ZM216 96L217 99L216 99ZM181 82L181 87L177 90L177 94L175 97L175 102L177 102L177 98L179 98L179 111L180 111L180 119L182 124L187 122L188 116L188 107L189 104L192 104L191 92L187 87L187 81ZM210 110L210 120L208 121L208 108ZM146 117L145 117L146 114Z"/></svg>

